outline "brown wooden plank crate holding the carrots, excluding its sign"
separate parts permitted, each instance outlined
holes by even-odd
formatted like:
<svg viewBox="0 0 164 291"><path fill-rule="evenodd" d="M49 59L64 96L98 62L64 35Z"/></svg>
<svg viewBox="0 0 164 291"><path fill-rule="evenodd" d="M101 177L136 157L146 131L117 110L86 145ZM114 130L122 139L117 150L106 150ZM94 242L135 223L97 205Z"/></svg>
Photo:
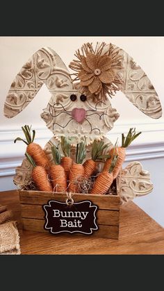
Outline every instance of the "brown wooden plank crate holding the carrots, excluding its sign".
<svg viewBox="0 0 164 291"><path fill-rule="evenodd" d="M19 198L22 208L22 225L26 231L45 232L44 210L42 210L42 205L47 204L49 200L65 202L65 196L63 194L53 194L51 192L21 190L19 192ZM99 226L99 230L94 231L92 235L99 238L118 239L120 196L74 194L74 202L83 200L90 200L99 206L99 210L97 210L97 225Z"/></svg>

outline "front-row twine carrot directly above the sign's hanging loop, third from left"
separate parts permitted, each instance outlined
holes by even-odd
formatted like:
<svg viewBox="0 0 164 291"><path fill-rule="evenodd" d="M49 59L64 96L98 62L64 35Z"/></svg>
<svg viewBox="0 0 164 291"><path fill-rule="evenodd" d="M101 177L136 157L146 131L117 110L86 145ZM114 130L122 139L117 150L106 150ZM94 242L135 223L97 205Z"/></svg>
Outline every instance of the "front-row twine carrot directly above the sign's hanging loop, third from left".
<svg viewBox="0 0 164 291"><path fill-rule="evenodd" d="M82 165L86 156L85 142L80 142L76 146L76 163L73 163L69 171L69 191L80 192L79 183L84 177L84 167Z"/></svg>

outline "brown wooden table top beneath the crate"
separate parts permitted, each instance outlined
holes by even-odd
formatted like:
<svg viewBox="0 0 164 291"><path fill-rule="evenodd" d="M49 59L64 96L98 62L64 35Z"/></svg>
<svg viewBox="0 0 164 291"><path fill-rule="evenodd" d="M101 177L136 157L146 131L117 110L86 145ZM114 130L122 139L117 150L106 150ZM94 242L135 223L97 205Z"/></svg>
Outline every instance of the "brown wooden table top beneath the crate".
<svg viewBox="0 0 164 291"><path fill-rule="evenodd" d="M18 192L0 192L0 204L13 210L20 228ZM19 235L22 254L164 254L164 228L133 202L121 206L119 240L22 229Z"/></svg>

